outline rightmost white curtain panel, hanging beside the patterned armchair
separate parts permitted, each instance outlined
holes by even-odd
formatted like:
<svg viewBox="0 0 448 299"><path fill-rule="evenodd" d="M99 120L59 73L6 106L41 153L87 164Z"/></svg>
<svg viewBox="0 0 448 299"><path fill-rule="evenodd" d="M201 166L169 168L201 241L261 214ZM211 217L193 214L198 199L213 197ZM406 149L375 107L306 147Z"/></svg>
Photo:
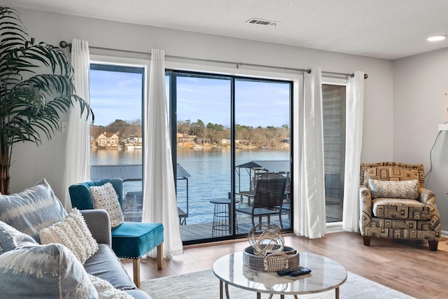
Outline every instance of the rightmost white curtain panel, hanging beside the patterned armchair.
<svg viewBox="0 0 448 299"><path fill-rule="evenodd" d="M359 230L359 172L363 145L364 72L355 71L349 78L346 98L346 144L344 174L344 211L342 228Z"/></svg>

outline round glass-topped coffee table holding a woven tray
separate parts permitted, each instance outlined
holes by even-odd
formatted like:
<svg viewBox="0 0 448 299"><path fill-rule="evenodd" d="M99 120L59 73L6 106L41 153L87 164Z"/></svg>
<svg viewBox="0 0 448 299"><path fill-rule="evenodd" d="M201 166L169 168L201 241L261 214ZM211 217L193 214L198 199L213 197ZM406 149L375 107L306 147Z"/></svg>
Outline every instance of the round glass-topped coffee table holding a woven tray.
<svg viewBox="0 0 448 299"><path fill-rule="evenodd" d="M344 266L335 260L309 252L300 253L300 266L309 267L311 273L290 277L279 276L276 272L254 270L244 265L241 251L218 258L213 265L213 272L220 280L221 299L224 298L224 291L230 299L229 285L254 291L257 298L261 298L261 293L269 293L278 294L282 299L285 295L297 298L297 295L320 293L334 288L335 298L339 299L339 286L347 279Z"/></svg>

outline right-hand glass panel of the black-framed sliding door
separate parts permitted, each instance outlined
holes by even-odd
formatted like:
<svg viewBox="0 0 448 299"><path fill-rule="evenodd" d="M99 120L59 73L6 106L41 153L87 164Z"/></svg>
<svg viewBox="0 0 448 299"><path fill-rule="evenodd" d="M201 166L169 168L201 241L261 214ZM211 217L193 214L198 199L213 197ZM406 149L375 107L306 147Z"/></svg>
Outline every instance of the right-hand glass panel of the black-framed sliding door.
<svg viewBox="0 0 448 299"><path fill-rule="evenodd" d="M235 80L235 195L238 232L247 234L260 220L253 216L257 188L263 182L282 186L280 203L265 203L262 222L290 228L290 98L289 82ZM274 185L280 180L281 184ZM269 210L269 211L267 211ZM255 213L257 211L255 210ZM254 221L252 221L254 218Z"/></svg>

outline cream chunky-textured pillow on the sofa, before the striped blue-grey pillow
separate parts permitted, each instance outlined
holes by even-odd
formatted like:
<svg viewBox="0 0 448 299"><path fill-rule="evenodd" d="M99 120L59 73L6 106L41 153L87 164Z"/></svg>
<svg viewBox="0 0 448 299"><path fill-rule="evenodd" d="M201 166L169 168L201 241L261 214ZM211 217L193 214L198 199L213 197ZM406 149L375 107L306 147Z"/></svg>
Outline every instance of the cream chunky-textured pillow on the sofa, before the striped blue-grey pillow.
<svg viewBox="0 0 448 299"><path fill-rule="evenodd" d="M73 208L66 218L39 232L41 244L57 243L69 248L84 264L95 252L98 243L85 223L83 215Z"/></svg>

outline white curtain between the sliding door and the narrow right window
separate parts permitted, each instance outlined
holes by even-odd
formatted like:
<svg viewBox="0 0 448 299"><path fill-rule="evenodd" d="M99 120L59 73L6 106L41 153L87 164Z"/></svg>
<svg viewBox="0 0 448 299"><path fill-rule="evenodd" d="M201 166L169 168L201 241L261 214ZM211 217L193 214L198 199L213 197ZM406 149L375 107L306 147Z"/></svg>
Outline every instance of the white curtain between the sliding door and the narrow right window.
<svg viewBox="0 0 448 299"><path fill-rule="evenodd" d="M300 195L294 232L317 238L326 233L323 165L322 70L304 74L303 140L300 161Z"/></svg>

